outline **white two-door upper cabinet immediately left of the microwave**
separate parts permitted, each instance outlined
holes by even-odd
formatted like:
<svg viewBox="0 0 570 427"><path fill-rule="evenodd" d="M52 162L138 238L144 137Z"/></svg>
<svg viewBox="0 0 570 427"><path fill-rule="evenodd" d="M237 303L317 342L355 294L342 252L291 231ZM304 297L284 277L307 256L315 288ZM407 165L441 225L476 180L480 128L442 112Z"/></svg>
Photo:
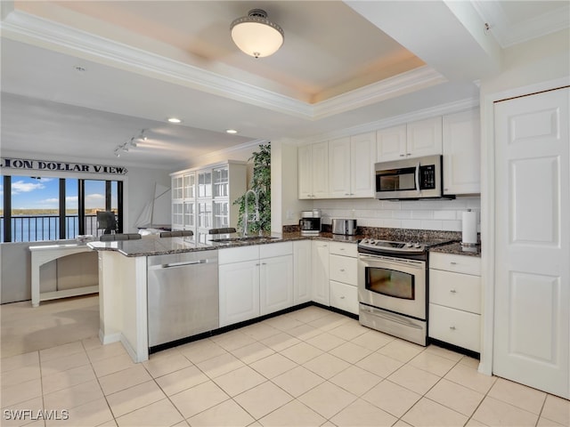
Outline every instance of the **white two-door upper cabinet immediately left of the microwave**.
<svg viewBox="0 0 570 427"><path fill-rule="evenodd" d="M374 197L376 134L329 141L329 197Z"/></svg>

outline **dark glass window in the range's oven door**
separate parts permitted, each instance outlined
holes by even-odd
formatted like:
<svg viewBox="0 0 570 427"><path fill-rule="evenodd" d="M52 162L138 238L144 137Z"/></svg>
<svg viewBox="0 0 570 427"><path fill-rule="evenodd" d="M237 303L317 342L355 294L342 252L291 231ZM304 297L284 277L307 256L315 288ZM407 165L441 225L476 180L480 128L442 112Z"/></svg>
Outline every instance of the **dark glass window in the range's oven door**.
<svg viewBox="0 0 570 427"><path fill-rule="evenodd" d="M414 275L397 270L366 267L366 289L377 294L413 300Z"/></svg>

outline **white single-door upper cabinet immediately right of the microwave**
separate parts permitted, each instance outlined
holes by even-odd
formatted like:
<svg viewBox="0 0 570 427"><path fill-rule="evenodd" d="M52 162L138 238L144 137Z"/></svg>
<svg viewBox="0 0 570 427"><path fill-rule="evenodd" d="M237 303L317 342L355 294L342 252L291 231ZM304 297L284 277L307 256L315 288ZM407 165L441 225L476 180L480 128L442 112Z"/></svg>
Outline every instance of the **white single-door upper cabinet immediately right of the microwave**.
<svg viewBox="0 0 570 427"><path fill-rule="evenodd" d="M479 110L444 116L444 194L481 192Z"/></svg>

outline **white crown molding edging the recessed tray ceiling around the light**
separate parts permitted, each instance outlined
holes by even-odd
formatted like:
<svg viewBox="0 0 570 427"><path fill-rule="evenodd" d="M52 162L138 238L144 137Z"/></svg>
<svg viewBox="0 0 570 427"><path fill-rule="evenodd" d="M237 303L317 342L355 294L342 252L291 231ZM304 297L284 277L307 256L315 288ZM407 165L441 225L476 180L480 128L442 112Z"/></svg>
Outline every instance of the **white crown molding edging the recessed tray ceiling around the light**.
<svg viewBox="0 0 570 427"><path fill-rule="evenodd" d="M309 104L27 12L15 10L8 13L0 22L0 29L2 36L15 41L77 55L85 60L307 120L334 116L446 81L435 69L424 66Z"/></svg>

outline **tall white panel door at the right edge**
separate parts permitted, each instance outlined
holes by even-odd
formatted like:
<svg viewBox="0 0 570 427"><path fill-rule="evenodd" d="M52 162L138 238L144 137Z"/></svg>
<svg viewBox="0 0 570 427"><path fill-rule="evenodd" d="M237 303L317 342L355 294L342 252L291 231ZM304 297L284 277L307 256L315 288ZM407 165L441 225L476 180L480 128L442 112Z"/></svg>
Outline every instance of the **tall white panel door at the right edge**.
<svg viewBox="0 0 570 427"><path fill-rule="evenodd" d="M493 374L570 398L570 89L495 103Z"/></svg>

